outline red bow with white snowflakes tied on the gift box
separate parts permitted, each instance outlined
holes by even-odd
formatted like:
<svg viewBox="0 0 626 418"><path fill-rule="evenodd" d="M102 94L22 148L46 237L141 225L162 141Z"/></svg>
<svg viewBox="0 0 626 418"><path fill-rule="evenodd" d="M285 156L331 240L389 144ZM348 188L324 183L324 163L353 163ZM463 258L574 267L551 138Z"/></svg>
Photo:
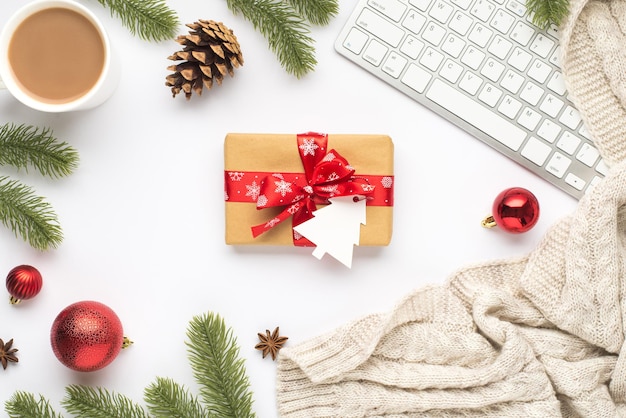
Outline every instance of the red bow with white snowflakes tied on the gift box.
<svg viewBox="0 0 626 418"><path fill-rule="evenodd" d="M257 199L257 209L285 206L276 217L264 224L252 227L257 237L293 216L292 226L297 226L313 217L317 204L327 204L335 196L364 195L374 192L367 180L354 176L354 168L335 150L326 152L326 134L299 134L298 152L304 166L304 176L272 174L262 182ZM294 244L313 245L294 232Z"/></svg>

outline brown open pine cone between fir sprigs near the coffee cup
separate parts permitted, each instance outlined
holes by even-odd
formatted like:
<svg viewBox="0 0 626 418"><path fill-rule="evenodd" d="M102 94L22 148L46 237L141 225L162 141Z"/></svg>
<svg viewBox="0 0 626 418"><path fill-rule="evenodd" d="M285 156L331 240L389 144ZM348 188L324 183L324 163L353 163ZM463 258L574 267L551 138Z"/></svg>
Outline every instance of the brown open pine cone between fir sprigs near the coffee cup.
<svg viewBox="0 0 626 418"><path fill-rule="evenodd" d="M237 37L222 22L200 19L186 26L192 29L189 34L176 38L184 49L168 57L185 62L167 67L175 73L166 77L165 85L172 88L172 97L182 90L189 100L192 92L201 95L203 86L209 90L213 80L221 85L226 74L232 77L233 69L243 65L243 56Z"/></svg>

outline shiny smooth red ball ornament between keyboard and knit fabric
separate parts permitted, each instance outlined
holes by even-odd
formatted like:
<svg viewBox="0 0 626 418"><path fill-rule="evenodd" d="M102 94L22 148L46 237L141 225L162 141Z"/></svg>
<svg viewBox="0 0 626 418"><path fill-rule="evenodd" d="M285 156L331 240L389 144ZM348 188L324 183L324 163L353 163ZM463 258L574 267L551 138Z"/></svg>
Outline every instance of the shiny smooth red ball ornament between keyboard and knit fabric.
<svg viewBox="0 0 626 418"><path fill-rule="evenodd" d="M522 187L505 189L493 201L492 215L482 225L499 226L512 234L531 229L539 220L539 201L530 191Z"/></svg>

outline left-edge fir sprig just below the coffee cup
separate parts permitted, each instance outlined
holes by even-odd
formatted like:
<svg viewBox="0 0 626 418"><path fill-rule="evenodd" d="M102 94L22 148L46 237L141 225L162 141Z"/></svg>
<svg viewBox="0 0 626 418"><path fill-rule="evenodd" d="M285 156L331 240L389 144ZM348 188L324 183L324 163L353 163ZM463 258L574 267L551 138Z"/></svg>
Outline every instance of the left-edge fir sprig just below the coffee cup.
<svg viewBox="0 0 626 418"><path fill-rule="evenodd" d="M63 177L78 166L78 153L48 128L7 123L0 126L0 165L34 167L44 176Z"/></svg>

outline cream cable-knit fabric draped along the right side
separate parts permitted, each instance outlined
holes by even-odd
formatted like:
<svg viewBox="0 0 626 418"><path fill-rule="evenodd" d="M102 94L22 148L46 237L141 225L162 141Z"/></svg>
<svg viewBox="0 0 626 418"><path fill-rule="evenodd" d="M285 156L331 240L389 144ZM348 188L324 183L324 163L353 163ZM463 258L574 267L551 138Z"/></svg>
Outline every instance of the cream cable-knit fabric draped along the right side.
<svg viewBox="0 0 626 418"><path fill-rule="evenodd" d="M626 0L575 0L561 29L611 173L527 257L285 347L282 417L626 417Z"/></svg>

